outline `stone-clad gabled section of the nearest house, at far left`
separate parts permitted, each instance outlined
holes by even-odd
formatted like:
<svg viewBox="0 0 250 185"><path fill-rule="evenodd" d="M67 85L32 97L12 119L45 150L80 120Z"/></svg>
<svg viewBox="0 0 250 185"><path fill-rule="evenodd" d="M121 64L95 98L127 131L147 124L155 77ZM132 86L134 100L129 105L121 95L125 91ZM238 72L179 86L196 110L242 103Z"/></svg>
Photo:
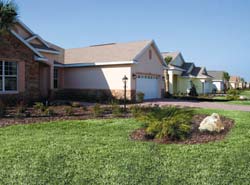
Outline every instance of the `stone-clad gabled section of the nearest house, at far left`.
<svg viewBox="0 0 250 185"><path fill-rule="evenodd" d="M30 100L53 89L54 60L60 51L34 34L20 20L0 42L0 97Z"/></svg>

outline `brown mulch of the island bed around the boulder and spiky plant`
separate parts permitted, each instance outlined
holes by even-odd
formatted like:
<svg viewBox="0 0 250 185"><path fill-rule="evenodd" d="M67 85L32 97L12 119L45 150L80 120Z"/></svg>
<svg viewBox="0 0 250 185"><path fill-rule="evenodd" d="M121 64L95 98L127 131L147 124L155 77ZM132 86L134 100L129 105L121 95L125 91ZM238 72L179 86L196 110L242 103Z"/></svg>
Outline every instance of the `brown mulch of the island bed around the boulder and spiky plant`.
<svg viewBox="0 0 250 185"><path fill-rule="evenodd" d="M131 133L130 138L138 141L151 141L162 144L200 144L208 143L211 141L223 140L231 128L234 126L234 120L220 116L222 123L225 125L224 130L220 133L200 132L199 124L208 115L195 115L192 119L192 133L189 138L183 141L170 141L167 139L152 139L148 138L145 128L140 128Z"/></svg>

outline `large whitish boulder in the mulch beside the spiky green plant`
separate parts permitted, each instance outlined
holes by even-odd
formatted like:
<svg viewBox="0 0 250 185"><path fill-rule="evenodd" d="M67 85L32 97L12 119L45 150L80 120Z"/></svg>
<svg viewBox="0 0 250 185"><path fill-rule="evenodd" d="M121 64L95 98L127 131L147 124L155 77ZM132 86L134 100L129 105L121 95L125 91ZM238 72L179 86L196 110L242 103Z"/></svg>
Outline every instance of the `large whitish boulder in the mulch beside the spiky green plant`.
<svg viewBox="0 0 250 185"><path fill-rule="evenodd" d="M220 116L217 113L213 113L211 116L207 116L199 126L200 131L220 132L224 130L224 125L221 122Z"/></svg>

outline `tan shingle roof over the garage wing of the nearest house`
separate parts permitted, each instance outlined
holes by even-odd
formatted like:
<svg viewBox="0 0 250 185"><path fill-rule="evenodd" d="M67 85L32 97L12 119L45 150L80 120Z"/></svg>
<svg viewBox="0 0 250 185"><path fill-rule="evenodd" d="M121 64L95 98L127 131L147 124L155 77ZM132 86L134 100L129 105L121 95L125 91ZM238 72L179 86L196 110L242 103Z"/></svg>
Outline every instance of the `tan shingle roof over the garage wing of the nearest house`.
<svg viewBox="0 0 250 185"><path fill-rule="evenodd" d="M133 61L152 40L110 43L65 50L65 64Z"/></svg>

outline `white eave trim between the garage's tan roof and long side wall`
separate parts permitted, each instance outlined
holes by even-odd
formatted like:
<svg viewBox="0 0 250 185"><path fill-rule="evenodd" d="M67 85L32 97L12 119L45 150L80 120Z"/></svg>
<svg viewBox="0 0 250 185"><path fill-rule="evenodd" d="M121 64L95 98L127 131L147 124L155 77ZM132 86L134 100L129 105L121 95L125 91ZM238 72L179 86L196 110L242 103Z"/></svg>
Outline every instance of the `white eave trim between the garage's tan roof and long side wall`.
<svg viewBox="0 0 250 185"><path fill-rule="evenodd" d="M137 64L136 61L110 61L110 62L93 62L93 63L73 63L73 64L54 64L55 67L94 67L107 65Z"/></svg>

